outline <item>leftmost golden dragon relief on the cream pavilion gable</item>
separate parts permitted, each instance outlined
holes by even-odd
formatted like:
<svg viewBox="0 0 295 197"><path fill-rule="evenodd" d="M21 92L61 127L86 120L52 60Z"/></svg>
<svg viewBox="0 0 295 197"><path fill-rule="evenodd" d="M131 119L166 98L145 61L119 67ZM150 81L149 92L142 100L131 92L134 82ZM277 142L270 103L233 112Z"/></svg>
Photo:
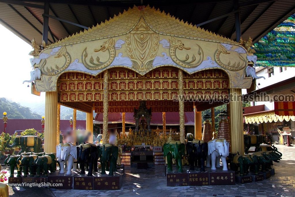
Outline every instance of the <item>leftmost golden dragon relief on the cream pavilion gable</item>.
<svg viewBox="0 0 295 197"><path fill-rule="evenodd" d="M71 63L71 55L67 52L65 47L61 47L60 50L58 51L58 54L54 56L54 58L60 58L60 57L65 58L65 63L62 66L58 66L55 64L55 67L53 68L50 66L48 68L46 66L46 59L41 63L41 72L43 75L48 75L48 76L53 76L57 75L61 71L65 70Z"/></svg>

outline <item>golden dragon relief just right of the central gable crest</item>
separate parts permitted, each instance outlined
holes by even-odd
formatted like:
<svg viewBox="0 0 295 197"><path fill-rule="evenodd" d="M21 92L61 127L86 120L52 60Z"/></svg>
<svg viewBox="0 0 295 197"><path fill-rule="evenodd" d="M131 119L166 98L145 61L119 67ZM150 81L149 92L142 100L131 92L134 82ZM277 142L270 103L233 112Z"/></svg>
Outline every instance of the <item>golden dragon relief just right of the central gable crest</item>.
<svg viewBox="0 0 295 197"><path fill-rule="evenodd" d="M176 50L190 50L191 47L185 47L184 44L181 42L181 40L176 40L175 37L171 37L171 40L169 39L171 45L170 45L170 55L171 58L173 59L173 61L175 63L177 63L178 65L181 65L183 67L188 67L188 68L195 68L198 65L200 65L204 59L204 52L202 50L202 48L200 47L200 45L196 44L198 46L198 60L196 58L195 55L193 55L191 57L191 60L189 60L189 55L186 54L185 59L181 60L180 58L177 57L176 55Z"/></svg>

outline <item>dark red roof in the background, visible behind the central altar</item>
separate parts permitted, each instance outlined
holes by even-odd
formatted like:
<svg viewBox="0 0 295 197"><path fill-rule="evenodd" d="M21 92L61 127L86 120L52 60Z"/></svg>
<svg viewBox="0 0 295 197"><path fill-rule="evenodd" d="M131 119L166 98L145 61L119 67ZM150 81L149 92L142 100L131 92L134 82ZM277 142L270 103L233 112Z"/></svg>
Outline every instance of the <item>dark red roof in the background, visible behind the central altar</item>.
<svg viewBox="0 0 295 197"><path fill-rule="evenodd" d="M133 112L125 113L125 122L135 124ZM103 122L102 113L96 114L94 119L96 124L101 124ZM108 123L122 122L122 113L109 113ZM163 114L162 112L152 112L151 125L162 125L163 124ZM178 125L179 124L179 112L166 112L166 125ZM194 112L184 112L184 124L194 125Z"/></svg>

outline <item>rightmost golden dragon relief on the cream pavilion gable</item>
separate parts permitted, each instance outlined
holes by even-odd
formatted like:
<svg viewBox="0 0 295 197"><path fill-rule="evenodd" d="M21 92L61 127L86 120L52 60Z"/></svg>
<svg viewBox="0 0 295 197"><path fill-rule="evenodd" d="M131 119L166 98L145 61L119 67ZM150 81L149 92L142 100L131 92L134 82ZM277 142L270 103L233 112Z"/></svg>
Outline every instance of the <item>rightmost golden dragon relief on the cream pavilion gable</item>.
<svg viewBox="0 0 295 197"><path fill-rule="evenodd" d="M235 55L235 56L238 55L239 59L242 61L231 63L229 60L231 55ZM228 58L226 58L227 56ZM221 60L222 57L228 60L222 61ZM237 59L237 58L232 58L232 59ZM232 70L232 71L242 70L247 65L247 61L245 60L245 58L242 57L240 53L233 52L233 51L229 52L221 44L217 44L217 50L215 51L215 60L222 68L227 70ZM227 63L224 63L224 61L227 61Z"/></svg>

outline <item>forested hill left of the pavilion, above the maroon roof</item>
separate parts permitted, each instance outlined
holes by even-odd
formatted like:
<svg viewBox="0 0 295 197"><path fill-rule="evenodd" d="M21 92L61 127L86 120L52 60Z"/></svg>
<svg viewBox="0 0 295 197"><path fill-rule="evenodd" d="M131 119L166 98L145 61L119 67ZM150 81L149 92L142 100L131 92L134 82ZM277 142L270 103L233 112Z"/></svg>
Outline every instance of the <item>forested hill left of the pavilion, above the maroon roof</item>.
<svg viewBox="0 0 295 197"><path fill-rule="evenodd" d="M29 107L21 106L6 98L0 98L0 115L7 112L9 119L41 119L41 115L33 113Z"/></svg>

